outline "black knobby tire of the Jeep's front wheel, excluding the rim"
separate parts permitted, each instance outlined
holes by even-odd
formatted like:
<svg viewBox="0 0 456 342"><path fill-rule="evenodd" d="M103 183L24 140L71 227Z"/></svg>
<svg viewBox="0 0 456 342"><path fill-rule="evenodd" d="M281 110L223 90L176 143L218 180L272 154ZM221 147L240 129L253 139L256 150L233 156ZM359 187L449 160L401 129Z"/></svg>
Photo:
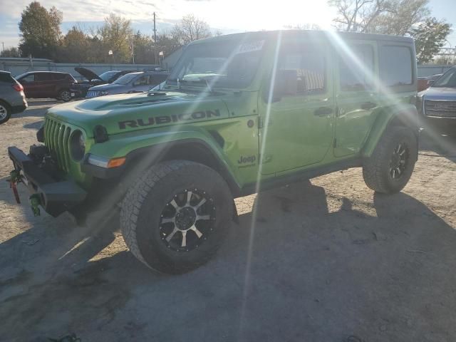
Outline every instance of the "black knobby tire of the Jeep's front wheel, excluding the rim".
<svg viewBox="0 0 456 342"><path fill-rule="evenodd" d="M216 214L214 229L204 241L190 252L182 252L166 246L160 222L164 208L175 194L188 189L210 194ZM227 183L211 168L186 160L161 162L145 172L123 199L120 210L123 239L130 252L151 269L185 273L206 263L217 252L231 226L232 202Z"/></svg>

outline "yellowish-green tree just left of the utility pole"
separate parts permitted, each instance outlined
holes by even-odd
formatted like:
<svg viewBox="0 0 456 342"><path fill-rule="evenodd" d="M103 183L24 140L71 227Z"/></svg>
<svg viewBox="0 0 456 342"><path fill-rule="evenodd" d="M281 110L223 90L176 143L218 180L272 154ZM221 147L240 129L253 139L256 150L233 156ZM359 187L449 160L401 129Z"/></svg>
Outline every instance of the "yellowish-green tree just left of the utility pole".
<svg viewBox="0 0 456 342"><path fill-rule="evenodd" d="M130 45L133 30L130 20L110 14L105 18L103 26L98 28L97 33L103 46L105 62L129 63L131 61ZM113 56L109 56L108 51L113 51Z"/></svg>

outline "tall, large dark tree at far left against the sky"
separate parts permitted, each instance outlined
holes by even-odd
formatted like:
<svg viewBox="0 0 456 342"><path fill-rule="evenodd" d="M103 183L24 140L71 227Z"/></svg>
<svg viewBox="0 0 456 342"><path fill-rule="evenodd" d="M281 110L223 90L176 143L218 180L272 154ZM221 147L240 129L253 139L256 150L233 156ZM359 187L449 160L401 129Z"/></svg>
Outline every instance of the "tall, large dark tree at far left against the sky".
<svg viewBox="0 0 456 342"><path fill-rule="evenodd" d="M47 10L38 1L28 4L19 22L22 56L54 58L61 38L62 18L62 12L56 7Z"/></svg>

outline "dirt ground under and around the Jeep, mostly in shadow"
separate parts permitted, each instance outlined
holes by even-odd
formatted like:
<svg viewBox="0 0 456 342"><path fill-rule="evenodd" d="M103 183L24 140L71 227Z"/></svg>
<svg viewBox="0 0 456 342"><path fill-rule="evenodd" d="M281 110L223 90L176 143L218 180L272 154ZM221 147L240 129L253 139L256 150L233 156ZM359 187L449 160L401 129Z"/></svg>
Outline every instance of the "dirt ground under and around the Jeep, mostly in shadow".
<svg viewBox="0 0 456 342"><path fill-rule="evenodd" d="M455 138L425 137L398 195L351 169L237 199L217 256L166 276L117 217L76 227L14 202L6 147L28 150L51 105L0 126L0 341L456 341Z"/></svg>

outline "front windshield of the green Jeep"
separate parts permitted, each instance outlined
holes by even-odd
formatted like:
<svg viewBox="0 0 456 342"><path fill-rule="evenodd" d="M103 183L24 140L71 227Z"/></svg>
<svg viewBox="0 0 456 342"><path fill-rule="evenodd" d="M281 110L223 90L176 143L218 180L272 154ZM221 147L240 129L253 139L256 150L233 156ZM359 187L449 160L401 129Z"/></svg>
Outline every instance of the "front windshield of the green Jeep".
<svg viewBox="0 0 456 342"><path fill-rule="evenodd" d="M190 45L168 81L181 86L246 88L257 73L264 40L224 41Z"/></svg>

